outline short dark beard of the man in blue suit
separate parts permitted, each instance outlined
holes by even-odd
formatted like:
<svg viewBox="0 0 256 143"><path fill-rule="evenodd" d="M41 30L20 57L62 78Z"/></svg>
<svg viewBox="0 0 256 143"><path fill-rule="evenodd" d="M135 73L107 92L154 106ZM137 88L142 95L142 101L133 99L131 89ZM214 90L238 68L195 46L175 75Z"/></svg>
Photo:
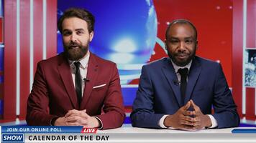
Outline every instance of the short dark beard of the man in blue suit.
<svg viewBox="0 0 256 143"><path fill-rule="evenodd" d="M195 56L196 56L196 50L192 51L193 53L188 56L187 59L184 59L183 61L180 61L175 58L175 56L178 56L178 54L171 54L170 51L168 50L168 56L172 61L177 65L177 66L186 66Z"/></svg>

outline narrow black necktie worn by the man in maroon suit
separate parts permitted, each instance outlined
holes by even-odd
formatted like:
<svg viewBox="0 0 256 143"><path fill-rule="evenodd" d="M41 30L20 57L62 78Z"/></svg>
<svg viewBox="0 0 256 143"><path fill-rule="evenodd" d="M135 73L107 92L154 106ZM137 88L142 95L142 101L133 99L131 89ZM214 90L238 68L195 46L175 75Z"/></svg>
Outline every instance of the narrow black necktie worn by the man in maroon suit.
<svg viewBox="0 0 256 143"><path fill-rule="evenodd" d="M74 64L76 66L76 96L78 97L78 104L80 107L82 101L82 79L79 68L81 63L79 61L76 61Z"/></svg>

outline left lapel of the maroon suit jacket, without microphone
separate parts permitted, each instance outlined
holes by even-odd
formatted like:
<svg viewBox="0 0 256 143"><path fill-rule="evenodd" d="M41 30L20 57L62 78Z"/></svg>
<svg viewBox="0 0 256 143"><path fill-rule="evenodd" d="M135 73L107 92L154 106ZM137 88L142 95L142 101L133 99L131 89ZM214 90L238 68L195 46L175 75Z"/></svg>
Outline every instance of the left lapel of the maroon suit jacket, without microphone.
<svg viewBox="0 0 256 143"><path fill-rule="evenodd" d="M58 65L60 77L63 81L66 91L68 92L68 97L73 105L73 108L78 109L76 90L73 84L73 79L70 71L70 66L68 64L68 60L65 58L64 54L62 54L60 57L62 57Z"/></svg>

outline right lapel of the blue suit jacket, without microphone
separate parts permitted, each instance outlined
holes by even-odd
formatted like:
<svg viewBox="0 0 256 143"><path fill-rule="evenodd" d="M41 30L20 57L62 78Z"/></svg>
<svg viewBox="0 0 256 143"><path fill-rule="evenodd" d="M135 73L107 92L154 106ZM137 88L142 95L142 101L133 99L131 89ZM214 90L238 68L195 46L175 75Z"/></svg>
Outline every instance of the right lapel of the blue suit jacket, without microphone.
<svg viewBox="0 0 256 143"><path fill-rule="evenodd" d="M189 70L188 74L188 84L186 89L186 97L184 103L188 102L189 99L191 99L191 94L193 91L193 88L196 85L196 81L201 73L201 64L198 61L198 57L196 56L191 64L191 68Z"/></svg>

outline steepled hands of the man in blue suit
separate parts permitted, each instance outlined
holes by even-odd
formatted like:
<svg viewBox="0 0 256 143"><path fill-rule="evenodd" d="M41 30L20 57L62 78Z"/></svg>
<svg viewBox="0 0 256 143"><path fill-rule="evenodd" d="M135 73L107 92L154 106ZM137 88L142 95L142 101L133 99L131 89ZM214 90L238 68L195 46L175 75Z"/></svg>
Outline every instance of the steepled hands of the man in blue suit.
<svg viewBox="0 0 256 143"><path fill-rule="evenodd" d="M189 111L189 107L192 111ZM196 130L204 127L211 127L211 119L208 115L201 112L201 109L190 100L185 106L180 107L173 115L168 115L165 118L164 124L166 127L175 129Z"/></svg>

